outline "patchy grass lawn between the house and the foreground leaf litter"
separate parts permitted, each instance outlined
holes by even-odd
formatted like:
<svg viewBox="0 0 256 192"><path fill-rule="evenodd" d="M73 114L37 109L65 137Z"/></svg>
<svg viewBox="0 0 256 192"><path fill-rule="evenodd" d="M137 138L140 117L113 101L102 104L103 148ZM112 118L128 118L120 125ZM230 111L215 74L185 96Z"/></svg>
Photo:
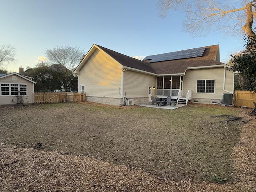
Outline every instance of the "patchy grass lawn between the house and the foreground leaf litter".
<svg viewBox="0 0 256 192"><path fill-rule="evenodd" d="M175 110L89 102L0 107L0 140L142 168L175 181L232 182L239 110L189 104ZM216 180L216 179L215 179Z"/></svg>

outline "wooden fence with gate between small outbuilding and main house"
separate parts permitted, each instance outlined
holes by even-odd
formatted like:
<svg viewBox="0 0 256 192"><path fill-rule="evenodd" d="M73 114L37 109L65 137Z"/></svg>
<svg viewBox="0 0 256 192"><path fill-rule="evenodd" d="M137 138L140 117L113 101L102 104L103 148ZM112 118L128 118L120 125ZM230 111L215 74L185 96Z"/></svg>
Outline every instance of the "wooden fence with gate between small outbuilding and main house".
<svg viewBox="0 0 256 192"><path fill-rule="evenodd" d="M86 101L86 93L34 93L34 104Z"/></svg>

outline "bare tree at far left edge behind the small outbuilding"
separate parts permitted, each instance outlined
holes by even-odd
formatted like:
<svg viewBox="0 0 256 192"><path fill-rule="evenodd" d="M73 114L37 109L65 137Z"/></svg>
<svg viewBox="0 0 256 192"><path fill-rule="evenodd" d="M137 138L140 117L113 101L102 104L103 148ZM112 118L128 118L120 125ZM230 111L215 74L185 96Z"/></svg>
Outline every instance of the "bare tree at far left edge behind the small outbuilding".
<svg viewBox="0 0 256 192"><path fill-rule="evenodd" d="M10 45L0 45L0 66L15 62L16 50Z"/></svg>

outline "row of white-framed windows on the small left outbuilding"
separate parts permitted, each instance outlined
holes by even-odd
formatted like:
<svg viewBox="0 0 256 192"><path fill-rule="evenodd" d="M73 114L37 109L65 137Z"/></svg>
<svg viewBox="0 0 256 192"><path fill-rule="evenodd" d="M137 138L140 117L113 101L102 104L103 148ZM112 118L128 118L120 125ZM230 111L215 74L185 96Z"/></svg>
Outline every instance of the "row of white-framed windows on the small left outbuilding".
<svg viewBox="0 0 256 192"><path fill-rule="evenodd" d="M1 83L1 96L27 95L27 84L4 84Z"/></svg>

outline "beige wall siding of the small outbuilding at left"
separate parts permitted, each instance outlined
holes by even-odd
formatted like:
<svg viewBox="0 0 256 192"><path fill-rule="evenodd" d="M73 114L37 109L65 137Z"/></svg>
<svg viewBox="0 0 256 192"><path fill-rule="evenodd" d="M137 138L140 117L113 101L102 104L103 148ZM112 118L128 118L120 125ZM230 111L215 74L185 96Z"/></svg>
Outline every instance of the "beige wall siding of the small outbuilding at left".
<svg viewBox="0 0 256 192"><path fill-rule="evenodd" d="M16 80L12 80L12 77L16 76ZM24 104L33 104L34 103L34 83L21 78L17 75L11 75L5 78L0 79L1 83L9 83L9 84L27 84L27 94L28 96L23 96ZM14 102L12 102L12 100ZM16 96L1 96L0 97L0 105L13 105L16 104L17 97Z"/></svg>

